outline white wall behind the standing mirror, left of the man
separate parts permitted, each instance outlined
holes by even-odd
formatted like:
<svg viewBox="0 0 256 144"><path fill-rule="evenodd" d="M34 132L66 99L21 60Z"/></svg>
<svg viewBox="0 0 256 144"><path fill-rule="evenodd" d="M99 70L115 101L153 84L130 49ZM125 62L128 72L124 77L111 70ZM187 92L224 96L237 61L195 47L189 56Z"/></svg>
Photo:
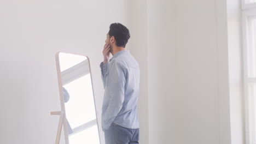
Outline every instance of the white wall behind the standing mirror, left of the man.
<svg viewBox="0 0 256 144"><path fill-rule="evenodd" d="M57 51L90 58L101 107L104 40L110 23L126 25L124 9L119 0L0 2L0 143L54 143L59 117L50 111L60 110Z"/></svg>

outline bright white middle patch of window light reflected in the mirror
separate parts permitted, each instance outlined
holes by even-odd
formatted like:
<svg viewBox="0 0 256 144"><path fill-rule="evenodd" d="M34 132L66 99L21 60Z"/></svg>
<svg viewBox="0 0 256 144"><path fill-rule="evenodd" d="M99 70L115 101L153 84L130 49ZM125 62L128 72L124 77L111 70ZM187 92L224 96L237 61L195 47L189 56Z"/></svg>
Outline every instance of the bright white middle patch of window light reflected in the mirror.
<svg viewBox="0 0 256 144"><path fill-rule="evenodd" d="M79 127L96 119L90 74L80 77L64 87L70 96L68 103L65 103L65 109L71 128Z"/></svg>

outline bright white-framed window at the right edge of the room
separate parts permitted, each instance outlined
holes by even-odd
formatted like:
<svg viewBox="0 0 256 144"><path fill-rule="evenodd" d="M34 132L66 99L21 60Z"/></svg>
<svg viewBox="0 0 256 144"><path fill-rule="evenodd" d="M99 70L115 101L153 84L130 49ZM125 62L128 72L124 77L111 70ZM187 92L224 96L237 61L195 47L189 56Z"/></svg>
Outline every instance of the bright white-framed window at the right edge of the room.
<svg viewBox="0 0 256 144"><path fill-rule="evenodd" d="M246 144L256 144L256 1L242 1Z"/></svg>

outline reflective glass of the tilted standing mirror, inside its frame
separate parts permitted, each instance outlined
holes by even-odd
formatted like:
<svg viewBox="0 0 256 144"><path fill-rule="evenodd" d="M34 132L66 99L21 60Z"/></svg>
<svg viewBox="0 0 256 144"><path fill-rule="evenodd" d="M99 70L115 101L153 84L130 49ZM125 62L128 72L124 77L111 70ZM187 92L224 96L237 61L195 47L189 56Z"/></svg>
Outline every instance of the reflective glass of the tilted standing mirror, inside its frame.
<svg viewBox="0 0 256 144"><path fill-rule="evenodd" d="M100 143L89 59L65 52L59 52L58 59L68 141Z"/></svg>

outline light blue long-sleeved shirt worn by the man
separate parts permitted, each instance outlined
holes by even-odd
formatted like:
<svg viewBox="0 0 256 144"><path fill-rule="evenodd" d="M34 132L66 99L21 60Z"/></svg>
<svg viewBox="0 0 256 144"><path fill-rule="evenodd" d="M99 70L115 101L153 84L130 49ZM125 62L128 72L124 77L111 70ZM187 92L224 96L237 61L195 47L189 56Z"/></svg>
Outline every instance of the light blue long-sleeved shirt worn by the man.
<svg viewBox="0 0 256 144"><path fill-rule="evenodd" d="M102 105L102 130L112 123L137 129L139 94L139 65L130 51L115 53L109 62L100 64L105 89Z"/></svg>

